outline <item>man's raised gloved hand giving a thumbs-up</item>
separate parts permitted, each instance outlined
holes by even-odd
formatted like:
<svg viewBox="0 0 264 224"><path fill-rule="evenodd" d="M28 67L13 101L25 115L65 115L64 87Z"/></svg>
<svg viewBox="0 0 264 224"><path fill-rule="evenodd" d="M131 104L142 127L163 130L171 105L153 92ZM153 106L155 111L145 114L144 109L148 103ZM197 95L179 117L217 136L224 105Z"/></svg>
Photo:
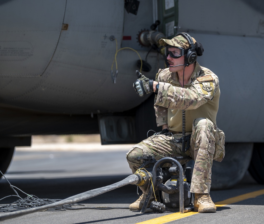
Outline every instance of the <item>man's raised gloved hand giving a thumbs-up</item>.
<svg viewBox="0 0 264 224"><path fill-rule="evenodd" d="M144 95L153 92L153 80L146 78L138 70L136 70L136 75L138 76L138 79L133 84L136 93L140 97L143 97Z"/></svg>

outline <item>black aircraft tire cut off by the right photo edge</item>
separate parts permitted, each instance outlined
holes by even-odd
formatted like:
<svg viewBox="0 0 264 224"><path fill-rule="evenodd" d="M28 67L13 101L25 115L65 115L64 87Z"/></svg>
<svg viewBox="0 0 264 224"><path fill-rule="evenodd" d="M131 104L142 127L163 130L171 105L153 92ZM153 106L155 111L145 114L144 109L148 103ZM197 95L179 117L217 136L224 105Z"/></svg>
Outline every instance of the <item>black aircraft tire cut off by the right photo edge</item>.
<svg viewBox="0 0 264 224"><path fill-rule="evenodd" d="M264 184L264 144L263 143L254 143L253 154L248 171L259 184Z"/></svg>

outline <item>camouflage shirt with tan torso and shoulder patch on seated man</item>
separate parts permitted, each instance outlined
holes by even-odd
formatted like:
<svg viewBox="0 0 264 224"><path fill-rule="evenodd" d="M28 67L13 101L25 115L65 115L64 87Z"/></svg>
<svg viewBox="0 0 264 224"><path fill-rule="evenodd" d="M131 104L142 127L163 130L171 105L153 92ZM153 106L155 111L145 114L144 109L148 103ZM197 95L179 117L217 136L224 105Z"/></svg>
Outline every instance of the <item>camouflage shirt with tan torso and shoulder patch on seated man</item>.
<svg viewBox="0 0 264 224"><path fill-rule="evenodd" d="M219 106L219 80L208 68L195 62L195 69L184 88L177 72L169 68L160 69L156 75L159 82L155 96L155 114L157 126L168 124L171 131L182 131L182 110L186 110L186 131L192 131L196 118L205 117L216 125Z"/></svg>

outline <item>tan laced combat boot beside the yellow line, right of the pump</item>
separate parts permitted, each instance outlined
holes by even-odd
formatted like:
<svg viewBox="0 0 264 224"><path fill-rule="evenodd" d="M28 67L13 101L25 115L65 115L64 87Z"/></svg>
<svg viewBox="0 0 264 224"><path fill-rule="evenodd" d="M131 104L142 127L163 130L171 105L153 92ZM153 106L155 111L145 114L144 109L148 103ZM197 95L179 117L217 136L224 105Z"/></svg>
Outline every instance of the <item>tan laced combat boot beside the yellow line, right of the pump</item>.
<svg viewBox="0 0 264 224"><path fill-rule="evenodd" d="M200 213L216 212L216 207L209 194L195 193L194 211Z"/></svg>

